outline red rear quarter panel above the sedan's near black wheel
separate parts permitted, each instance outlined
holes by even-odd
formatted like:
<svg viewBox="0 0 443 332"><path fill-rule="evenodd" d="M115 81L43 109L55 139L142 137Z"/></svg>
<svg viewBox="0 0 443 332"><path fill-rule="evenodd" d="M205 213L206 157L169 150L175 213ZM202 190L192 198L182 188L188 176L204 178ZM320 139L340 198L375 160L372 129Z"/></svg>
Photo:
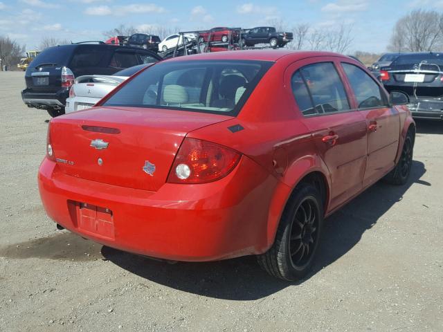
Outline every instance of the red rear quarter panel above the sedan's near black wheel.
<svg viewBox="0 0 443 332"><path fill-rule="evenodd" d="M327 167L316 154L311 133L299 120L291 86L284 84L287 65L281 61L269 69L237 118L188 133L188 137L236 149L278 179L271 201L257 196L257 207L268 209L266 232L262 234L266 249L273 243L282 210L298 181L317 171L329 183ZM233 133L228 127L236 124L244 129Z"/></svg>

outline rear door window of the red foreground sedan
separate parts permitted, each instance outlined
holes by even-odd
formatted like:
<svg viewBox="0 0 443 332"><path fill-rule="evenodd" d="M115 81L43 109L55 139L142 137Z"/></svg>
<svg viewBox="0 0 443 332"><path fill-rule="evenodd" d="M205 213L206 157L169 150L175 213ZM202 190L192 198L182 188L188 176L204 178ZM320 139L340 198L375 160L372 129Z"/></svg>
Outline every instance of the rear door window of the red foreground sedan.
<svg viewBox="0 0 443 332"><path fill-rule="evenodd" d="M291 86L298 107L305 116L350 109L345 88L332 62L300 68L292 76Z"/></svg>

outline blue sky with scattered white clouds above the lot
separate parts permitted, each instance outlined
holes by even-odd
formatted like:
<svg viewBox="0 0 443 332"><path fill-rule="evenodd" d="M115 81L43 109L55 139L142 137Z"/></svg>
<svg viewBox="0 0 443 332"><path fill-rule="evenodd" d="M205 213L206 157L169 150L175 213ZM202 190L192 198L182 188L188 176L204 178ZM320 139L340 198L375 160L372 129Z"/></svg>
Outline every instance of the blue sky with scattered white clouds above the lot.
<svg viewBox="0 0 443 332"><path fill-rule="evenodd" d="M352 26L354 37L348 53L382 53L397 19L419 8L441 12L443 0L0 0L0 35L32 50L44 37L104 40L103 32L120 24L185 31L252 28L282 20L289 30L299 23L324 29L344 23Z"/></svg>

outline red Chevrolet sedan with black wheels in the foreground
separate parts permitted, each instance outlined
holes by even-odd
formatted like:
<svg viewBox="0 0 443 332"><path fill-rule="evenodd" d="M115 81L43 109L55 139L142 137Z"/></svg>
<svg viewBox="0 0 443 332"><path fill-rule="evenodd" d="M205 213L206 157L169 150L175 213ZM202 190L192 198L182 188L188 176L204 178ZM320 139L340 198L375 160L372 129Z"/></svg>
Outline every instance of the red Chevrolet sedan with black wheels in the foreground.
<svg viewBox="0 0 443 332"><path fill-rule="evenodd" d="M334 53L178 57L51 120L39 191L57 224L106 246L180 261L257 255L298 279L325 216L381 178L406 183L407 102Z"/></svg>

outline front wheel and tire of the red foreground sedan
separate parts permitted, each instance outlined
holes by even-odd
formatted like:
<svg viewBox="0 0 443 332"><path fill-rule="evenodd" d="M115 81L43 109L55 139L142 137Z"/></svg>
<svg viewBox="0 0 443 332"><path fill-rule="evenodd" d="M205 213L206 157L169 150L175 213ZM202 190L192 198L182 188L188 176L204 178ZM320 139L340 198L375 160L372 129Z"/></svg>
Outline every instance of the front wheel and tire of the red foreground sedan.
<svg viewBox="0 0 443 332"><path fill-rule="evenodd" d="M391 185L404 185L408 182L410 169L413 165L414 140L413 133L408 131L404 140L401 156L395 168L383 180Z"/></svg>

